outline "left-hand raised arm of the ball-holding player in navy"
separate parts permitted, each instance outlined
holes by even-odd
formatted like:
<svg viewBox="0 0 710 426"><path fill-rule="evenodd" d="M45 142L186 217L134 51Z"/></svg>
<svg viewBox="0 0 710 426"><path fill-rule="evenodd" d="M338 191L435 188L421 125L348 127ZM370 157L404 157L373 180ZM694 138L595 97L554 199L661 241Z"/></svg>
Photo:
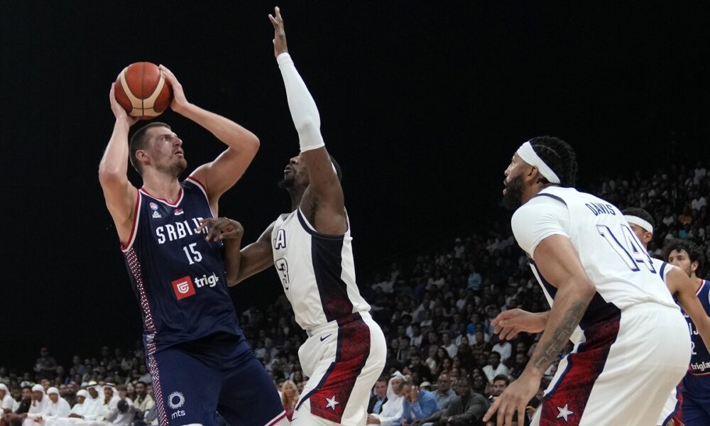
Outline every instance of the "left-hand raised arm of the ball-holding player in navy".
<svg viewBox="0 0 710 426"><path fill-rule="evenodd" d="M99 182L104 191L106 205L116 224L121 243L126 243L131 234L133 210L136 207L136 187L128 179L129 167L129 129L136 119L116 102L114 84L111 84L109 102L111 111L116 116L114 132L99 163Z"/></svg>

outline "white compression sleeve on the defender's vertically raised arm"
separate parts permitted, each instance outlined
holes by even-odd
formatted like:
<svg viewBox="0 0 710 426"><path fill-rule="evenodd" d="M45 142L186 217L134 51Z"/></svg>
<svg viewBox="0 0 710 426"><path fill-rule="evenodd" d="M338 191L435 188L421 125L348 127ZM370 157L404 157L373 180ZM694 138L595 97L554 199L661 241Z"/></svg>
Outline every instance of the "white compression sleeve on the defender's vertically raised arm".
<svg viewBox="0 0 710 426"><path fill-rule="evenodd" d="M276 58L286 89L288 109L291 111L293 124L298 132L301 152L310 151L324 146L320 134L320 114L315 101L308 92L306 84L298 74L288 53L282 53Z"/></svg>

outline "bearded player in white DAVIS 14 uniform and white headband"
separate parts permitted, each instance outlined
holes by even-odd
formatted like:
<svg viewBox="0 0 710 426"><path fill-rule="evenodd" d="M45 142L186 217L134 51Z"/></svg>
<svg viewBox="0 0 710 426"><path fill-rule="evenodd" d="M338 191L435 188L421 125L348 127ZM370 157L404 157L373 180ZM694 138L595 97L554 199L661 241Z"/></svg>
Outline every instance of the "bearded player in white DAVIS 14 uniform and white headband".
<svg viewBox="0 0 710 426"><path fill-rule="evenodd" d="M574 189L572 148L550 136L523 143L505 172L503 203L550 311L493 320L501 338L542 332L518 380L491 405L510 425L569 339L532 425L655 425L690 359L679 308L618 208Z"/></svg>

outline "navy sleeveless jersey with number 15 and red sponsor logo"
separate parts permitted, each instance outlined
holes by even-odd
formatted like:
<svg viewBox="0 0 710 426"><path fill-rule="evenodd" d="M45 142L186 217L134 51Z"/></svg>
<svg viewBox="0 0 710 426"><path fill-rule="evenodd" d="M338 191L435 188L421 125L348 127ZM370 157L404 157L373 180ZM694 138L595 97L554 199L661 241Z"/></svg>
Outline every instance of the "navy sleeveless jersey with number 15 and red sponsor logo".
<svg viewBox="0 0 710 426"><path fill-rule="evenodd" d="M148 355L214 332L241 335L224 278L222 241L197 232L212 217L200 182L180 183L175 204L138 190L126 256Z"/></svg>

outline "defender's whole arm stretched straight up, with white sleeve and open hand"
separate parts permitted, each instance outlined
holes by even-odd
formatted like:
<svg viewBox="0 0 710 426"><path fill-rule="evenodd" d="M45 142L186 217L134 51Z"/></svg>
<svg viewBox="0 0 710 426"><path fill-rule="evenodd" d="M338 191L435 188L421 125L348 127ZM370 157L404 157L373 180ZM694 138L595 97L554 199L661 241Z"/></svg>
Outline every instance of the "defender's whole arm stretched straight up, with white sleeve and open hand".
<svg viewBox="0 0 710 426"><path fill-rule="evenodd" d="M314 218L315 229L323 234L343 234L347 230L344 196L330 155L320 133L320 114L308 88L298 74L288 54L286 34L280 9L269 15L274 28L274 55L283 77L288 108L298 132L300 157L308 169L309 187L301 202L301 209ZM312 212L312 206L317 206Z"/></svg>

